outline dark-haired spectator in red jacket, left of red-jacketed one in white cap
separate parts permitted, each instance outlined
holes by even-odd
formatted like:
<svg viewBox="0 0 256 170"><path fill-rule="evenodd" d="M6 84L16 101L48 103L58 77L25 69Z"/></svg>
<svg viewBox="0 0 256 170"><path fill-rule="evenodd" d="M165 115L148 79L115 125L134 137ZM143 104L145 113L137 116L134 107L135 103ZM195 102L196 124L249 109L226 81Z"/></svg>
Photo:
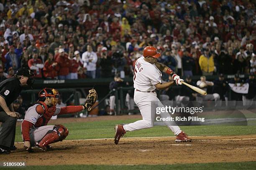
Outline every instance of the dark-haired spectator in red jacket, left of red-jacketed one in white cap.
<svg viewBox="0 0 256 170"><path fill-rule="evenodd" d="M44 77L50 79L57 79L58 78L58 71L59 71L59 64L54 62L54 56L52 53L48 54L48 59L44 63Z"/></svg>

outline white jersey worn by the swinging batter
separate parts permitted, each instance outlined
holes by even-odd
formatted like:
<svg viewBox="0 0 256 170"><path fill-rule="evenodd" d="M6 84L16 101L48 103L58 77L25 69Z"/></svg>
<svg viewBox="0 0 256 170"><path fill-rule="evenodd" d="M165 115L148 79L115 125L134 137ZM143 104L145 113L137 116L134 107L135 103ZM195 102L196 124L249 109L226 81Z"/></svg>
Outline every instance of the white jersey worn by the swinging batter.
<svg viewBox="0 0 256 170"><path fill-rule="evenodd" d="M133 87L142 92L155 90L157 83L161 83L162 73L155 64L144 60L144 57L138 58L135 63Z"/></svg>

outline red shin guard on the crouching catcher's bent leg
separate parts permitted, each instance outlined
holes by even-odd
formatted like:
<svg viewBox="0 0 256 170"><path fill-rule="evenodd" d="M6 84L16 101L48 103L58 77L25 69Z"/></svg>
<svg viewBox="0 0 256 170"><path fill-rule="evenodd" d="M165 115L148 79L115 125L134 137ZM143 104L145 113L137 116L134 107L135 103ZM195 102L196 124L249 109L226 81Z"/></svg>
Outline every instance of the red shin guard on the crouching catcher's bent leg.
<svg viewBox="0 0 256 170"><path fill-rule="evenodd" d="M36 142L35 146L46 151L49 144L64 140L69 134L69 130L63 125L55 125L54 129L47 133L40 142Z"/></svg>

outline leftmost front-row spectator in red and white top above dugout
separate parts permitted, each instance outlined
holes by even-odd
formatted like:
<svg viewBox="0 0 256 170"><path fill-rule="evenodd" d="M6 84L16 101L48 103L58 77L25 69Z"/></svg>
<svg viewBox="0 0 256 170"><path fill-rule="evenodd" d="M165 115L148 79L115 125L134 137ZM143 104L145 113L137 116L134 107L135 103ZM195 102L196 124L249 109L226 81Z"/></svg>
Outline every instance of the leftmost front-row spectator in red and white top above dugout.
<svg viewBox="0 0 256 170"><path fill-rule="evenodd" d="M28 67L31 70L35 70L36 77L42 78L42 68L44 68L44 64L42 60L38 58L38 54L36 50L33 50L32 57L30 60L28 60Z"/></svg>

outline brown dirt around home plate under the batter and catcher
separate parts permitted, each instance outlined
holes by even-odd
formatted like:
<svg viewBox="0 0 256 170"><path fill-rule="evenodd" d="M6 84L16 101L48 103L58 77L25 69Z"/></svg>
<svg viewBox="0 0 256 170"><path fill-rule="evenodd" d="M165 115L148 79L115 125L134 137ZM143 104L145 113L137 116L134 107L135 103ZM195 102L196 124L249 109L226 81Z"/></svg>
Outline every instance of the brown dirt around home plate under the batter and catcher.
<svg viewBox="0 0 256 170"><path fill-rule="evenodd" d="M73 164L174 164L256 161L256 135L192 137L191 143L175 143L174 137L64 140L52 144L53 150L35 153L18 149L10 155L1 155L1 161L27 165Z"/></svg>

